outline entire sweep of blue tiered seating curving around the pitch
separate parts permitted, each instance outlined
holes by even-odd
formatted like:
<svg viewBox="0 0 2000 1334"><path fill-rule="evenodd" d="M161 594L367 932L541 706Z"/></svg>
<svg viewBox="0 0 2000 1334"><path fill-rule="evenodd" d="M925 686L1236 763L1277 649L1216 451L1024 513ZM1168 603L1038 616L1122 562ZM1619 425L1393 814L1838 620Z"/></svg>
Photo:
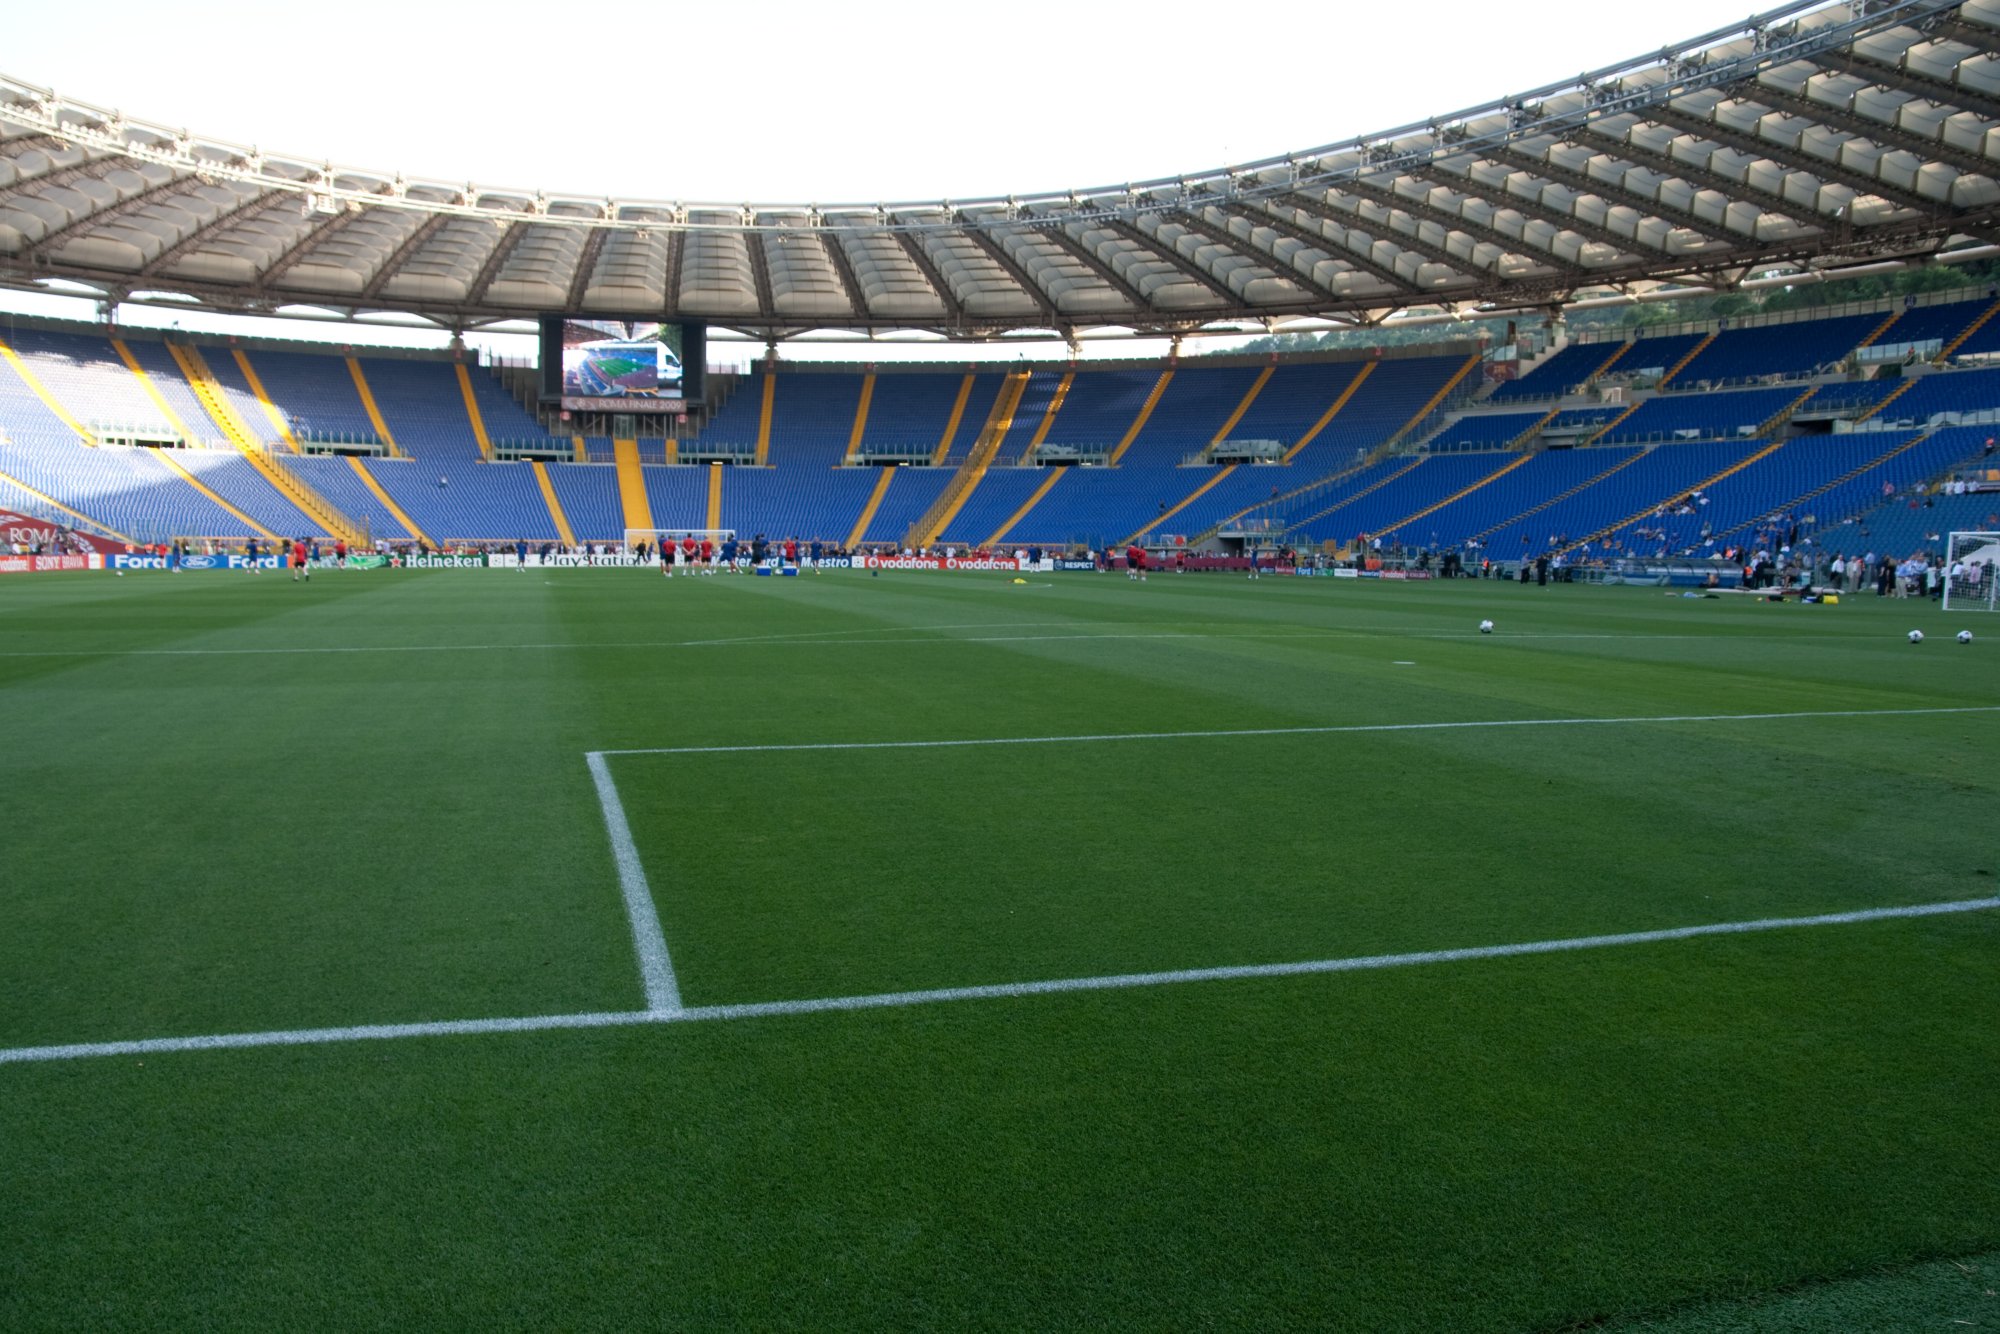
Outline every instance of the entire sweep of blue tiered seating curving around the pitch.
<svg viewBox="0 0 2000 1334"><path fill-rule="evenodd" d="M1902 360L1894 350L1906 348L1904 356L1914 352L1918 364L1902 378L1890 366L1890 378L1818 384L1804 404L1800 396L1808 386L1796 380L1848 358L1862 338L1882 328L1882 314L1724 330L1706 342L1704 334L1640 338L1620 352L1606 374L1614 382L1644 380L1694 354L1666 392L1630 410L1588 404L1548 416L1550 398L1588 380L1620 348L1612 342L1572 344L1524 380L1498 386L1488 402L1500 410L1464 412L1438 430L1422 454L1388 454L1366 468L1358 468L1360 458L1440 400L1464 358L1282 362L1268 368L1216 366L1196 358L1170 374L1162 364L1034 368L994 464L942 540L970 546L1006 530L1008 546L1084 542L1102 548L1134 532L1198 534L1246 516L1272 520L1288 528L1292 540L1312 542L1352 542L1364 532L1414 546L1462 546L1482 538L1488 554L1518 558L1540 554L1552 540L1574 544L1608 532L1606 544L1592 554L1654 556L1712 554L1784 514L1786 524L1796 520L1816 528L1826 542L1916 550L1932 530L1984 526L1982 518L1954 518L1956 508L1944 514L1942 502L1938 510L1910 510L1904 496L1914 484L1976 456L1986 438L2000 434L2000 368L1934 370L1922 364L1966 330L1976 330L1976 336L1960 352L1986 346L1982 338L2000 350L2000 320L1986 318L1992 306L1990 300L1968 300L1904 310L1876 340L1880 354L1868 360ZM0 474L138 540L242 540L252 536L252 524L284 536L322 532L234 448L182 450L166 460L156 450L86 446L64 424L62 412L86 426L178 426L200 442L224 446L220 422L208 416L166 344L142 338L126 344L166 410L108 336L20 330L8 336L8 344L60 412L12 370L0 368ZM230 348L202 348L202 358L250 432L274 442L278 430ZM278 412L308 436L376 436L342 356L254 350L248 360ZM370 356L362 368L398 450L410 456L370 458L364 462L366 476L428 538L558 540L534 470L480 458L452 362ZM720 474L720 524L742 536L844 542L886 476L864 540L902 542L956 468L902 466L890 474L842 468L864 384L870 384L868 410L860 416L864 452L928 458L944 446L956 464L992 418L1006 374L1002 368L974 372L968 388L964 368L880 370L872 382L854 368L784 368L774 380L752 372L736 382L728 402L688 442L684 456L698 460L702 444L726 444L750 454L770 382L768 466L736 466ZM1772 376L1790 382L1724 392L1704 388ZM472 372L470 386L492 440L568 442L564 434L552 436L490 372ZM1058 392L1060 408L1050 414ZM1510 402L1534 406L1508 410ZM1330 414L1334 404L1340 410ZM1826 430L1826 418L1872 416L1858 430L1836 422L1842 430L1834 434L1784 438L1788 430L1798 430L1784 424L1794 406L1800 418L1816 420L1818 430ZM954 408L960 408L956 426ZM1108 468L1052 472L1012 466L1024 460L1044 422L1050 424L1050 446L1110 454L1126 436L1130 444ZM1590 440L1594 430L1604 430L1604 436L1590 446L1562 448ZM1216 438L1276 440L1286 450L1304 442L1304 448L1286 466L1186 462ZM1540 452L1516 452L1516 442ZM548 478L578 540L616 542L626 516L618 472L608 462L612 442L592 438L586 448L600 462L552 464ZM706 464L664 466L664 450L660 440L640 446L652 522L660 528L708 526L710 478L716 474ZM414 536L348 460L288 456L282 466L370 536L398 542ZM1352 476L1336 476L1342 468L1350 468ZM180 470L224 504L202 494ZM1704 488L1698 504L1674 504L1694 486ZM1884 504L1884 486L1894 490L1890 504ZM1022 512L1036 496L1034 506ZM250 522L232 514L230 506ZM2000 500L1974 496L1958 508L1984 516L1996 506ZM1676 514L1676 508L1686 512ZM1864 512L1868 522L1842 522ZM1870 528L1886 536L1870 540Z"/></svg>

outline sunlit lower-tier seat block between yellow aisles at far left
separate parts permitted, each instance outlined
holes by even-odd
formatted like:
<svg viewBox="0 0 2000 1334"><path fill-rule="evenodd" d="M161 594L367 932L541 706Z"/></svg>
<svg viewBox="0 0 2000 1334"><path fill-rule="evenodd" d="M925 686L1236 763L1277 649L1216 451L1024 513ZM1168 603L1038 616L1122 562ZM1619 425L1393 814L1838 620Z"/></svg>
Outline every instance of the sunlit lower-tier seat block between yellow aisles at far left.
<svg viewBox="0 0 2000 1334"><path fill-rule="evenodd" d="M76 440L4 442L0 472L136 542L256 536L160 462L156 450L92 448Z"/></svg>

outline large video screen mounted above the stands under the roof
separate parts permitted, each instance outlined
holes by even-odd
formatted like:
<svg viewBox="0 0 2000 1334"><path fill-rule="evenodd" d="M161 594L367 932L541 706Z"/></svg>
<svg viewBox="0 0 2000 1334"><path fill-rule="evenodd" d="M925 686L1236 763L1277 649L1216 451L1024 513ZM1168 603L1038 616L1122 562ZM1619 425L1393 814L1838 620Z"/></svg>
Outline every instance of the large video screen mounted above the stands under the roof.
<svg viewBox="0 0 2000 1334"><path fill-rule="evenodd" d="M708 330L542 316L542 402L570 412L686 412L706 392Z"/></svg>

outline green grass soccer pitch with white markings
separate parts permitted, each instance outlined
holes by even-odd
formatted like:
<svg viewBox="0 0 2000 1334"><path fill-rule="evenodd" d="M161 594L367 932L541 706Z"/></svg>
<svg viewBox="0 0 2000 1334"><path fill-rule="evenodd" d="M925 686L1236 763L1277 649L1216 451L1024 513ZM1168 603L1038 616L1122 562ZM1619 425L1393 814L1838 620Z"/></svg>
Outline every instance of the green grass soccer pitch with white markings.
<svg viewBox="0 0 2000 1334"><path fill-rule="evenodd" d="M1984 630L8 580L0 1326L1692 1330L1990 1272Z"/></svg>

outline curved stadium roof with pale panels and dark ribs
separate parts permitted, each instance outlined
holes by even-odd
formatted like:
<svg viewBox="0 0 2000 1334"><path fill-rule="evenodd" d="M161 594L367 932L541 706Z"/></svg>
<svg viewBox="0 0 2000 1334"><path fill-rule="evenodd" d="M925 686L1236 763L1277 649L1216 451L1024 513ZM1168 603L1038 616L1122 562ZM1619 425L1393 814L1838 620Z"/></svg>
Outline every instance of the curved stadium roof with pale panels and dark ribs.
<svg viewBox="0 0 2000 1334"><path fill-rule="evenodd" d="M562 310L770 338L1278 328L1984 246L1996 166L2000 0L1806 0L1280 158L880 204L406 180L0 76L0 284L448 328Z"/></svg>

